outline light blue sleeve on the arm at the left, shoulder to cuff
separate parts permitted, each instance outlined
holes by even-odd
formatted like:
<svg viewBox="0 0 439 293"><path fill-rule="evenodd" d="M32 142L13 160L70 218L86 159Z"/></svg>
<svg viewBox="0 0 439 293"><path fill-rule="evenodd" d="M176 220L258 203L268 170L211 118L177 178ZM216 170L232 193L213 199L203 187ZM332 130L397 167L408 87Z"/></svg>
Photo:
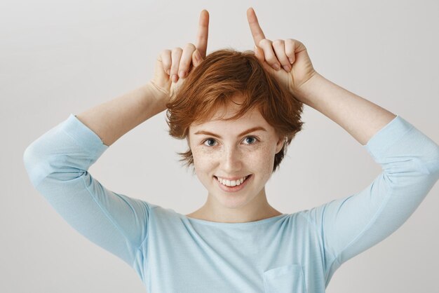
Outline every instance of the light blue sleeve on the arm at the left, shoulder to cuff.
<svg viewBox="0 0 439 293"><path fill-rule="evenodd" d="M137 266L139 247L147 237L149 205L109 191L90 175L88 168L107 149L71 114L32 142L23 161L35 189L76 231Z"/></svg>

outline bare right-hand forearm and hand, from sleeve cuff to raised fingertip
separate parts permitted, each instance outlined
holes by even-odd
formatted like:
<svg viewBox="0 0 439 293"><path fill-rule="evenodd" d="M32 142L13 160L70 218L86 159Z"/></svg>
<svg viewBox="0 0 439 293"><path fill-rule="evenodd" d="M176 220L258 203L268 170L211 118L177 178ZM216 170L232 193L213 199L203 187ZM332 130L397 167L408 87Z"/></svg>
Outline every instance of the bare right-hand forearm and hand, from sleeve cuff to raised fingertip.
<svg viewBox="0 0 439 293"><path fill-rule="evenodd" d="M396 117L390 111L318 74L300 41L266 39L252 8L248 9L247 16L255 40L255 54L264 67L297 100L342 126L360 144L365 145L378 130Z"/></svg>

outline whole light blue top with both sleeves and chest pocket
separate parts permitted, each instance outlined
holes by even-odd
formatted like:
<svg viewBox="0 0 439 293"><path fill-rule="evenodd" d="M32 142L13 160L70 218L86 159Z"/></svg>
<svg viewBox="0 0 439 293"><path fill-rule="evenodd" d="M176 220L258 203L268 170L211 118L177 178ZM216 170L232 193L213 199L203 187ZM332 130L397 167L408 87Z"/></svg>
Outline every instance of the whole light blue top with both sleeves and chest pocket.
<svg viewBox="0 0 439 293"><path fill-rule="evenodd" d="M390 236L439 178L439 146L400 116L365 146L382 167L365 189L246 223L192 219L106 189L87 171L108 146L70 114L27 147L30 181L149 293L323 293L345 261Z"/></svg>

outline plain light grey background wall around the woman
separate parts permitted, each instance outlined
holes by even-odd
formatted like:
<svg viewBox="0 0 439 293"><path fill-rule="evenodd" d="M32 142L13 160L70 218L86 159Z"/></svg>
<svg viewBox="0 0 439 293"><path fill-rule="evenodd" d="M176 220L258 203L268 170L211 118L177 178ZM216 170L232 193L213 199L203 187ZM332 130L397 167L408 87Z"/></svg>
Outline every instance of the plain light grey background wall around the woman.
<svg viewBox="0 0 439 293"><path fill-rule="evenodd" d="M439 142L438 1L1 1L0 291L145 292L135 271L72 229L33 188L25 148L151 79L156 55L194 42L210 12L208 53L252 49L245 11L268 39L298 39L330 81L399 114ZM90 168L104 186L188 214L204 187L180 166L165 112ZM381 168L339 125L305 107L304 130L266 185L292 213L364 189ZM167 156L158 156L158 153ZM398 231L335 273L327 292L439 292L439 184ZM227 280L225 280L227 281Z"/></svg>

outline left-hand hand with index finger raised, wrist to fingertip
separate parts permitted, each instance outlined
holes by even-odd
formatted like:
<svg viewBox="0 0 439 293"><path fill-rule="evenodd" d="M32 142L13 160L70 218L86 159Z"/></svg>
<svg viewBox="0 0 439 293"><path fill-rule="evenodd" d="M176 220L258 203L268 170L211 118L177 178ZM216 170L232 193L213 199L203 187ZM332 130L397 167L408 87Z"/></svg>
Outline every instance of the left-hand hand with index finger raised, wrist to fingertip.
<svg viewBox="0 0 439 293"><path fill-rule="evenodd" d="M163 50L157 57L154 69L154 78L151 80L158 88L168 93L169 101L175 95L175 91L181 85L193 67L197 67L205 58L208 48L209 13L201 11L198 22L198 35L196 46L187 43L182 48ZM169 102L166 101L166 102Z"/></svg>

